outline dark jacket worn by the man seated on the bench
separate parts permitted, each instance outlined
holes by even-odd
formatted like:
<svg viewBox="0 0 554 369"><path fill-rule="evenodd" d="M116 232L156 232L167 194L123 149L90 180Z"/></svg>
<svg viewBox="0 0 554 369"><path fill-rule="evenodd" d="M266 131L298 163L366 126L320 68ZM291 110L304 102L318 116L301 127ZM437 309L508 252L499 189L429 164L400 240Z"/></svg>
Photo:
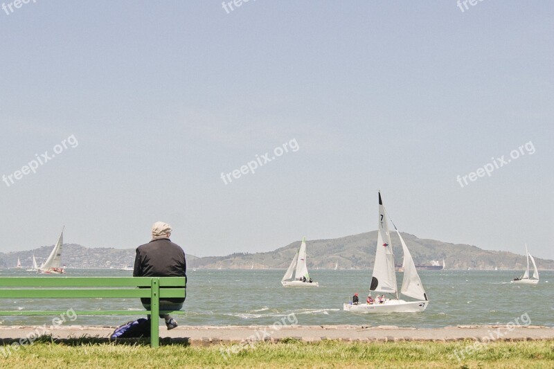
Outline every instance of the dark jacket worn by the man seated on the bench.
<svg viewBox="0 0 554 369"><path fill-rule="evenodd" d="M168 238L153 240L136 248L134 277L186 277L185 252ZM185 286L183 286L185 287ZM160 303L183 303L184 298L160 299ZM150 304L150 298L141 298Z"/></svg>

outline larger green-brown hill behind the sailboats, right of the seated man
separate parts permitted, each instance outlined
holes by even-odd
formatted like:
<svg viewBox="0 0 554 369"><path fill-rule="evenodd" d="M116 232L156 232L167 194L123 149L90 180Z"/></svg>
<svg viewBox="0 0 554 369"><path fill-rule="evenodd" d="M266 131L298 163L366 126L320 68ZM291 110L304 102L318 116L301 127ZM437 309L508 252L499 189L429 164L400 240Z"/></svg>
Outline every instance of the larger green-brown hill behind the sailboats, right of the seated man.
<svg viewBox="0 0 554 369"><path fill-rule="evenodd" d="M436 240L425 240L409 233L402 233L415 264L429 265L445 260L447 269L525 269L526 258L507 251L486 251L467 244L449 244ZM402 247L395 233L391 233L395 248L395 264L402 264ZM280 268L286 269L301 242L296 241L275 251L266 253L233 253L222 257L208 257L199 260L201 265L210 269L249 269ZM307 240L308 268L310 270L332 269L336 262L339 269L372 269L375 261L377 231L350 235L332 240ZM554 260L535 258L537 268L554 269Z"/></svg>

